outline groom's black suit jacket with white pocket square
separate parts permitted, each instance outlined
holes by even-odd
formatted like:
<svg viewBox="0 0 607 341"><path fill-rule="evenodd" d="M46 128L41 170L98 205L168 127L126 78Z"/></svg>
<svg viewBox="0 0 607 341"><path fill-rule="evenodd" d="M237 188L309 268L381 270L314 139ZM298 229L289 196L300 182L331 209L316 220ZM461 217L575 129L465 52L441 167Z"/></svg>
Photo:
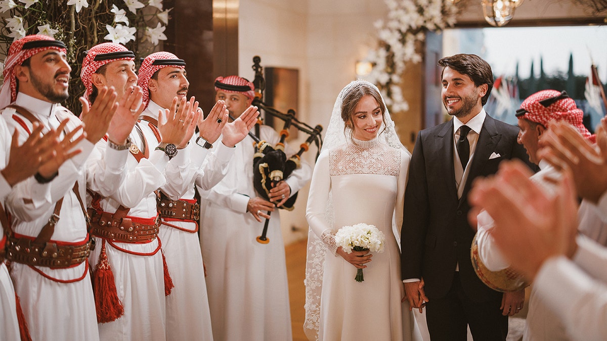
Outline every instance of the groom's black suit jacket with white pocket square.
<svg viewBox="0 0 607 341"><path fill-rule="evenodd" d="M503 160L528 161L517 143L518 127L486 116L476 143L464 192L458 199L453 166L453 120L421 130L409 166L401 229L402 279L423 277L428 299L444 297L455 265L468 297L477 302L501 300L472 268L470 245L475 234L467 220L467 197L476 177L495 174ZM500 157L490 158L493 153Z"/></svg>

